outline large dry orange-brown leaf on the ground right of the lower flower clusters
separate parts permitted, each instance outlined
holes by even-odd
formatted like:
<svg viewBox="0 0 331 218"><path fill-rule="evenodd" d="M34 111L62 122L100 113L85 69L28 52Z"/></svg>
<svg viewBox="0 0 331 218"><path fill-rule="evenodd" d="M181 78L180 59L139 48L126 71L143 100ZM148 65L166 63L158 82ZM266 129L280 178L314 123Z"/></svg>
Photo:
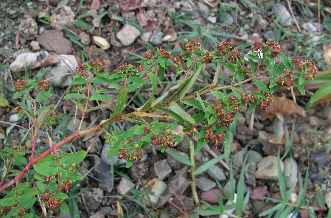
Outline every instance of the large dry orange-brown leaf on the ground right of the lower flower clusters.
<svg viewBox="0 0 331 218"><path fill-rule="evenodd" d="M272 102L269 108L266 109L267 118L273 118L276 113L281 113L284 116L299 114L302 117L306 116L306 111L294 101L278 96L272 96Z"/></svg>

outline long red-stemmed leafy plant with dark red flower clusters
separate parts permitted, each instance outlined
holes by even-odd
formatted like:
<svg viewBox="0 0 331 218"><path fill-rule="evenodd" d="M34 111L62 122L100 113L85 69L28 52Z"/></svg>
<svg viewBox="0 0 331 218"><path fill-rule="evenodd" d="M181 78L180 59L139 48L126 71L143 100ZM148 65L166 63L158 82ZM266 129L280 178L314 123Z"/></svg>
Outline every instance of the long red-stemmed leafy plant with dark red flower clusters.
<svg viewBox="0 0 331 218"><path fill-rule="evenodd" d="M119 66L111 74L104 70L104 61L101 58L76 67L77 74L73 76L71 82L71 93L67 94L65 98L71 100L82 111L81 122L73 134L55 144L51 141L50 128L57 119L57 116L53 114L55 105L39 108L40 101L52 96L50 84L47 81L18 80L12 89L12 91L16 91L13 98L21 98L22 101L17 102L15 113L18 113L19 118L25 114L30 119L32 149L28 163L26 151L22 146L14 145L1 152L5 167L2 172L0 191L9 192L0 200L2 213L9 211L8 216L24 216L36 201L36 195L38 195L41 205L46 208L50 210L60 208L68 211L65 202L68 197L66 193L76 180L82 178L77 174L77 167L85 158L86 152L60 154L57 149L73 139L91 132L104 131L106 133L105 143L110 145L108 156L127 160L127 167L142 159L141 149L148 145L160 146L161 152L164 152L168 147L181 141L181 136L173 134L173 130L178 127L178 124L184 127L183 131L189 137L198 139L197 146L210 143L220 147L225 140L229 140L225 132L226 128L234 120L240 119L237 112L244 105L249 105L249 112L252 112L257 106L259 109L265 110L272 104L272 94L279 85L288 89L296 85L304 94L304 81L312 79L316 75L316 67L311 62L301 61L298 58L291 60L282 52L276 42L254 43L252 52L246 55L249 60L248 66L245 66L238 49L230 42L223 42L217 46L215 51L208 52L201 50L198 42L184 40L182 50L180 54L173 57L173 62L177 65L176 76L184 74L185 79L168 90L164 90L161 96L155 96L155 93L158 87L162 87L168 67L173 66L170 61L171 52L165 49L147 51L145 59L138 61L137 65ZM277 56L282 60L278 65L275 64ZM195 86L203 65L210 63L216 63L212 82L199 91L192 92L192 87ZM262 64L269 68L268 76L257 76ZM220 86L219 82L224 67L233 72L232 83ZM269 79L270 82L265 84L261 79ZM111 116L95 127L81 129L87 113L107 106L107 104L100 104L99 101L112 100L109 96L104 95L105 84L109 83L109 88L118 90L117 103ZM244 83L254 83L260 91L246 93L245 90L238 88ZM135 110L123 112L128 93L144 87L151 88L150 97L146 102L138 105L139 107ZM36 93L35 90L38 92L36 96L32 95ZM207 102L203 99L202 96L208 92L215 96L214 102ZM91 101L94 101L96 106L89 108ZM26 102L31 102L31 104ZM183 109L183 105L193 107L198 112L192 115ZM148 122L144 119L146 117L166 118L170 122L167 124L157 121ZM107 127L114 122L133 122L136 125L126 131L108 131ZM34 153L34 149L40 128L47 129L50 148L37 155ZM136 140L136 135L143 136ZM225 148L227 154L229 154L229 149ZM18 172L12 168L13 165L23 165L24 168ZM24 174L32 168L36 170L35 179L40 180L37 182L39 190L30 188L29 183L20 183ZM15 177L9 180L10 176ZM11 186L13 188L10 190Z"/></svg>

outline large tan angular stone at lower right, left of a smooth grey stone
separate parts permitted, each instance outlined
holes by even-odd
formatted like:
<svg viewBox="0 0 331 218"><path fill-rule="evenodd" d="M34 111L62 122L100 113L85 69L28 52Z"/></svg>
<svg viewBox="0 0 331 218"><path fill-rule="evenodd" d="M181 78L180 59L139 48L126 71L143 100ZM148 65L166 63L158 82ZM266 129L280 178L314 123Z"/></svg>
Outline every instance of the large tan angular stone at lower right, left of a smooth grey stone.
<svg viewBox="0 0 331 218"><path fill-rule="evenodd" d="M280 160L280 167L283 173L284 164ZM269 155L263 158L260 163L257 171L255 171L255 177L258 179L278 179L278 169L277 169L277 156Z"/></svg>

